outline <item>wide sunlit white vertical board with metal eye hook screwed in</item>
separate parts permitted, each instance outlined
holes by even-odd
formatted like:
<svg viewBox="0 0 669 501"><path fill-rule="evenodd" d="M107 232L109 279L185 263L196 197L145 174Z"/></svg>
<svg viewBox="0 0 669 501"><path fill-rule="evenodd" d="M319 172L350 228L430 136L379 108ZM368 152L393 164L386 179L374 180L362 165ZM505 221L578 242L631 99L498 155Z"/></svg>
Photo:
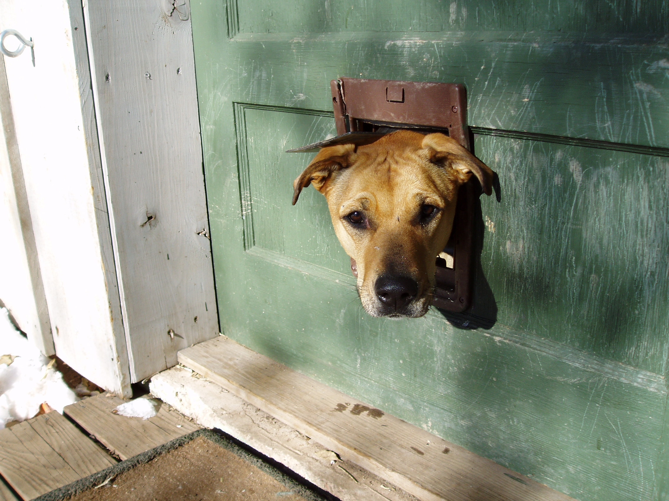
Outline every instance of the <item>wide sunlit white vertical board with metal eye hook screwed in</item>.
<svg viewBox="0 0 669 501"><path fill-rule="evenodd" d="M104 186L89 163L80 93L87 84L74 53L84 30L72 27L66 1L0 0L0 11L3 23L35 40L34 66L26 51L5 58L5 69L56 352L96 384L129 394L114 263L105 258L111 239L98 228L108 217Z"/></svg>

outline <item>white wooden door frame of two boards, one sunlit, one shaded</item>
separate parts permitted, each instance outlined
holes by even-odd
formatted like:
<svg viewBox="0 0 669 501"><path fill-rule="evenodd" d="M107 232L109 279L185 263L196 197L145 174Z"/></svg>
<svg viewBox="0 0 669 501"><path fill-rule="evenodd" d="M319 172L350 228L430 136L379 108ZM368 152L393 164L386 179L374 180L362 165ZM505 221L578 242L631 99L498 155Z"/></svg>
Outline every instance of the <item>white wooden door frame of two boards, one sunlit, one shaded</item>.
<svg viewBox="0 0 669 501"><path fill-rule="evenodd" d="M55 351L124 396L219 332L191 25L167 4L0 0L35 42L5 66Z"/></svg>

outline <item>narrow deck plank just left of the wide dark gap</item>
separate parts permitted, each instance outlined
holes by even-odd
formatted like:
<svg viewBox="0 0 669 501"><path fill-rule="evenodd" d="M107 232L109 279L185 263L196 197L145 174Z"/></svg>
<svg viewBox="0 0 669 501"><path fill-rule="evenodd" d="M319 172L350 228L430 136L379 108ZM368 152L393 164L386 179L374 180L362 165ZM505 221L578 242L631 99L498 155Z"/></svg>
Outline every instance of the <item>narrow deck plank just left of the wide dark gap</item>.
<svg viewBox="0 0 669 501"><path fill-rule="evenodd" d="M116 461L62 414L50 412L27 421L53 450L80 476L87 477L114 466Z"/></svg>

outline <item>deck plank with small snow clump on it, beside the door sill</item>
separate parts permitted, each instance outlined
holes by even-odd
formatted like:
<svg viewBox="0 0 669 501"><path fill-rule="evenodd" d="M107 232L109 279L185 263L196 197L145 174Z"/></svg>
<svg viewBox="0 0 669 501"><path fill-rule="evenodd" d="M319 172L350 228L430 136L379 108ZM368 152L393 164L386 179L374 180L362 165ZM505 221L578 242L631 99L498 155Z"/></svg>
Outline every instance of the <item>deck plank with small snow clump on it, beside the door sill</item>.
<svg viewBox="0 0 669 501"><path fill-rule="evenodd" d="M189 434L199 427L166 409L149 420L112 413L124 403L118 397L97 395L65 407L65 413L122 460ZM177 425L181 425L178 428Z"/></svg>

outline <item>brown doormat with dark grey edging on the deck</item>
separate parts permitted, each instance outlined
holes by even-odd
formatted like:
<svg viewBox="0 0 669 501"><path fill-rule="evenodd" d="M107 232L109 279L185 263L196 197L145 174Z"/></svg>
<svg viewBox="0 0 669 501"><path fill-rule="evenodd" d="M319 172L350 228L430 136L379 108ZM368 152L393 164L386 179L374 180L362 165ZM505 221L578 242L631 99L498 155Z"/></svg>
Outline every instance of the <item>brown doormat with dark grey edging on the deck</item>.
<svg viewBox="0 0 669 501"><path fill-rule="evenodd" d="M187 449L177 452L187 444ZM189 457L169 457L179 453L189 454ZM197 464L193 458L197 458ZM133 476L132 470L138 467L142 468L142 472ZM253 477L254 472L256 477ZM140 473L144 475L138 476ZM186 473L187 478L184 478ZM152 486L152 482L157 485ZM117 489L118 494L114 492ZM149 493L151 496L147 497ZM145 497L150 501L270 498L281 501L338 501L332 494L282 464L250 450L219 430L197 430L39 496L35 501L69 498L74 498L73 501L132 500Z"/></svg>

